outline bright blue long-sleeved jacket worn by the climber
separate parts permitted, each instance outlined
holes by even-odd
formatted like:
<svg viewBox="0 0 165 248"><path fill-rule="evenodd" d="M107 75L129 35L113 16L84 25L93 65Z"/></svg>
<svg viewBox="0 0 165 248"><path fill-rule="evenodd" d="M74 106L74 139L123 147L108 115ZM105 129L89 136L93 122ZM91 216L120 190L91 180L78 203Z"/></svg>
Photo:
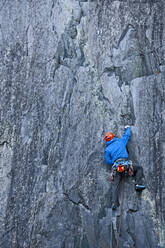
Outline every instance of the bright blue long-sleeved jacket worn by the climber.
<svg viewBox="0 0 165 248"><path fill-rule="evenodd" d="M127 143L131 136L131 128L127 127L125 134L120 138L114 137L107 142L105 149L105 161L109 165L113 165L115 160L119 158L128 158Z"/></svg>

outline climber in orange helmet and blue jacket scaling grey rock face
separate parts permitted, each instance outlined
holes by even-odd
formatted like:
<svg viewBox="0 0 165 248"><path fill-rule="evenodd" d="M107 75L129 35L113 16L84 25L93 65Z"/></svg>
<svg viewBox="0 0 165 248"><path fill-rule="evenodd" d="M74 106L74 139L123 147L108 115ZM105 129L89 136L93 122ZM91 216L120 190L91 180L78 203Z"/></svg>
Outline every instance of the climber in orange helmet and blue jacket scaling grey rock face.
<svg viewBox="0 0 165 248"><path fill-rule="evenodd" d="M107 147L105 150L105 160L108 165L112 166L111 182L114 181L113 205L115 210L120 204L118 200L119 186L123 175L128 172L130 176L135 176L135 189L141 191L145 189L142 184L143 168L141 166L132 166L132 162L128 161L127 143L131 136L130 126L126 126L124 135L118 139L112 132L105 135Z"/></svg>

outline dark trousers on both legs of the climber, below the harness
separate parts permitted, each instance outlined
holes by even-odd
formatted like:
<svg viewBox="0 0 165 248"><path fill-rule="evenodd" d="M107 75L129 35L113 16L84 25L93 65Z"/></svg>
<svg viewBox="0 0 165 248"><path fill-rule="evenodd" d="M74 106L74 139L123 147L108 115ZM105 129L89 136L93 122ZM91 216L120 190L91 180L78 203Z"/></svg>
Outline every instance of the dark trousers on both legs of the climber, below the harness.
<svg viewBox="0 0 165 248"><path fill-rule="evenodd" d="M134 165L133 176L135 176L136 184L142 184L143 168L141 166ZM122 181L123 177L124 174L119 172L116 172L116 175L114 177L112 201L117 206L119 206L119 188L120 188L120 182Z"/></svg>

